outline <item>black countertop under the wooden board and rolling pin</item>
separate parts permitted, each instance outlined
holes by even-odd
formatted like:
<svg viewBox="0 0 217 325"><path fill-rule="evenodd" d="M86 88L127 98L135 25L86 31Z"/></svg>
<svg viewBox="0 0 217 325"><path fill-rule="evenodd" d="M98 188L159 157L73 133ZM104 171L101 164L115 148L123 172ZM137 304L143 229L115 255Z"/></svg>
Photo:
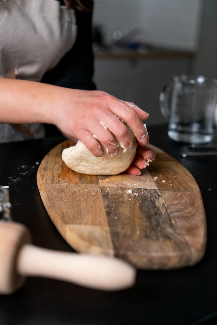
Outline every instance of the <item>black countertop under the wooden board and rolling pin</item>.
<svg viewBox="0 0 217 325"><path fill-rule="evenodd" d="M203 260L178 270L139 270L135 286L120 292L28 278L18 292L0 295L1 325L187 325L217 311L217 156L180 158L188 146L170 140L167 126L148 131L151 143L180 161L200 187L208 225ZM62 140L1 144L0 184L9 185L13 219L30 229L35 245L73 251L50 221L36 183L36 162Z"/></svg>

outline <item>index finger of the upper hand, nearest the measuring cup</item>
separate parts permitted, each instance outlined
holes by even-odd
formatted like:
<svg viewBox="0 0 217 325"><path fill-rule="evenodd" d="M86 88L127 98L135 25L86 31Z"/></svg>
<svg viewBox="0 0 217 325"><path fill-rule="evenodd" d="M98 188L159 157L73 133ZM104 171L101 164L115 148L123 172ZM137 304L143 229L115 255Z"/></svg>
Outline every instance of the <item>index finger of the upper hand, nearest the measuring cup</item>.
<svg viewBox="0 0 217 325"><path fill-rule="evenodd" d="M148 132L136 110L114 97L111 97L109 100L111 101L109 103L111 111L129 125L141 144L148 144ZM145 116L147 117L147 114Z"/></svg>

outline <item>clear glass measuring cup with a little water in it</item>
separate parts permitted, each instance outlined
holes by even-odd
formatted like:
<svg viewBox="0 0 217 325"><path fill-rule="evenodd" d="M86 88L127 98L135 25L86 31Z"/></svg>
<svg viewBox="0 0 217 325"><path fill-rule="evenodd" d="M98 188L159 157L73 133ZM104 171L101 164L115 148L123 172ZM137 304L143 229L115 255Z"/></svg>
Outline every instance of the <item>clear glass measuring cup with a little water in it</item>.
<svg viewBox="0 0 217 325"><path fill-rule="evenodd" d="M168 96L172 91L171 108ZM214 137L217 79L180 75L160 93L160 110L169 121L168 135L175 141L207 143Z"/></svg>

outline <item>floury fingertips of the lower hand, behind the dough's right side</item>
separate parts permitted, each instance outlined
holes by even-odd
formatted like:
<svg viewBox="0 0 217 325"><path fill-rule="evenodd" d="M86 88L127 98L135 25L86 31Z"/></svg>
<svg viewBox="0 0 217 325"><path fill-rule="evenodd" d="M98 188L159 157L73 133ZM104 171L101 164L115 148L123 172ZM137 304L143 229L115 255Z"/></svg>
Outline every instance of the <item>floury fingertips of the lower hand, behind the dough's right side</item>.
<svg viewBox="0 0 217 325"><path fill-rule="evenodd" d="M146 168L147 162L152 162L155 157L156 154L153 150L137 144L136 156L126 172L131 175L141 175L140 169Z"/></svg>

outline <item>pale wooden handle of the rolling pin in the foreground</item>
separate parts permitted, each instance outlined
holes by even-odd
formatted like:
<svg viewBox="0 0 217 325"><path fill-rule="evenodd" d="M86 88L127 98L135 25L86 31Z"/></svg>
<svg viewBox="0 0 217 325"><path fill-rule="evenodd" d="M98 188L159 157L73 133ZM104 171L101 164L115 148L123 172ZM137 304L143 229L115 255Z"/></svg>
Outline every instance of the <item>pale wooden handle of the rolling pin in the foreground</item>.
<svg viewBox="0 0 217 325"><path fill-rule="evenodd" d="M26 244L19 252L21 276L59 279L105 291L122 290L135 282L136 271L113 257L58 252Z"/></svg>

